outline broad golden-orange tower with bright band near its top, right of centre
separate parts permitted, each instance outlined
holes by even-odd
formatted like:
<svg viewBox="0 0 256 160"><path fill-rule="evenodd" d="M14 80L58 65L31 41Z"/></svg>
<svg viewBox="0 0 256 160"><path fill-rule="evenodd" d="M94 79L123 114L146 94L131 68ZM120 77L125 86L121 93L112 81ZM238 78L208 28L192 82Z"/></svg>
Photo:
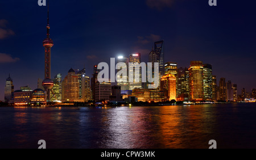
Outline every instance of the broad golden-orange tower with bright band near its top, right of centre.
<svg viewBox="0 0 256 160"><path fill-rule="evenodd" d="M189 68L189 98L191 100L204 99L203 69L202 61L191 61Z"/></svg>

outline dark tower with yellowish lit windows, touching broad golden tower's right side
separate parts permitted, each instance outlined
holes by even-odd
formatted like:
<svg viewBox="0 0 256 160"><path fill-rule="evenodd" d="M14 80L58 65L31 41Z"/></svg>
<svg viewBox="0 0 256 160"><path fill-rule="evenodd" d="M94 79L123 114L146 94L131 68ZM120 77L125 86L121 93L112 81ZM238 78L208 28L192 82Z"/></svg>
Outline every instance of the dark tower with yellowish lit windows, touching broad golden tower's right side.
<svg viewBox="0 0 256 160"><path fill-rule="evenodd" d="M212 65L203 66L204 100L212 100Z"/></svg>

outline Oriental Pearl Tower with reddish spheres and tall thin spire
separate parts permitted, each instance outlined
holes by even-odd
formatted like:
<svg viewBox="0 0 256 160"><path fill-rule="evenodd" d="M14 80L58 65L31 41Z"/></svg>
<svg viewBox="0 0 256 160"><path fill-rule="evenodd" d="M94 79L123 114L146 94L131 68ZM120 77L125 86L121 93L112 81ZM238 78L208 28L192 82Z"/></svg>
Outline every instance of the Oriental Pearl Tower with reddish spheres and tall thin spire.
<svg viewBox="0 0 256 160"><path fill-rule="evenodd" d="M49 37L49 3L48 3L48 16L47 16L47 37L43 40L43 47L44 47L44 81L42 82L42 86L46 91L46 100L47 102L51 101L51 91L53 88L53 81L51 79L51 48L53 46L53 40Z"/></svg>

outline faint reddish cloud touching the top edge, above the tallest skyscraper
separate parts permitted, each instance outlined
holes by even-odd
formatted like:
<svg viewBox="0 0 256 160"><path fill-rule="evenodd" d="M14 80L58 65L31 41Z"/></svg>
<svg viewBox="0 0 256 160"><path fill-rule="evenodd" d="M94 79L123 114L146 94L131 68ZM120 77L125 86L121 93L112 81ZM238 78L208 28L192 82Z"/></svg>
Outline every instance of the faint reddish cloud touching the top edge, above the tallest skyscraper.
<svg viewBox="0 0 256 160"><path fill-rule="evenodd" d="M164 7L171 7L175 0L146 0L147 6L152 9L162 10Z"/></svg>

